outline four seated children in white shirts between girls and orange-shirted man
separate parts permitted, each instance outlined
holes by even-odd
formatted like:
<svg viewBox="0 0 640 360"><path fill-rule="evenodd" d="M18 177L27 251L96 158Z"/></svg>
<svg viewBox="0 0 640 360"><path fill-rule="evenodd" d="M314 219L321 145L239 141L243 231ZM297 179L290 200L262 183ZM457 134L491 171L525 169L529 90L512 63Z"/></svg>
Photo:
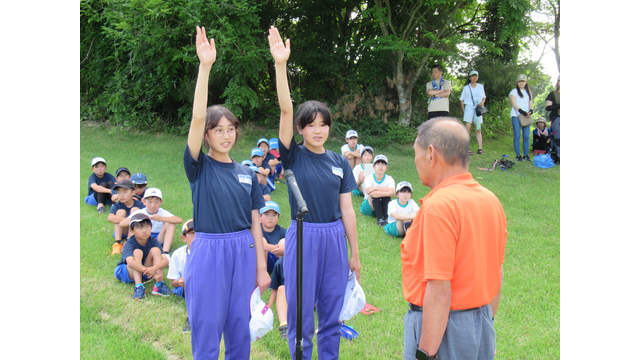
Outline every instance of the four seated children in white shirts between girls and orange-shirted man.
<svg viewBox="0 0 640 360"><path fill-rule="evenodd" d="M353 167L353 177L358 188L352 191L355 196L364 196L360 212L366 216L375 216L378 226L394 237L403 236L417 211L418 204L411 199L413 187L407 181L395 184L395 180L386 174L389 159L384 155L373 157L373 148L358 144L358 134L349 130L347 144L342 146L344 155ZM373 160L373 164L372 164ZM397 199L391 200L395 194Z"/></svg>

